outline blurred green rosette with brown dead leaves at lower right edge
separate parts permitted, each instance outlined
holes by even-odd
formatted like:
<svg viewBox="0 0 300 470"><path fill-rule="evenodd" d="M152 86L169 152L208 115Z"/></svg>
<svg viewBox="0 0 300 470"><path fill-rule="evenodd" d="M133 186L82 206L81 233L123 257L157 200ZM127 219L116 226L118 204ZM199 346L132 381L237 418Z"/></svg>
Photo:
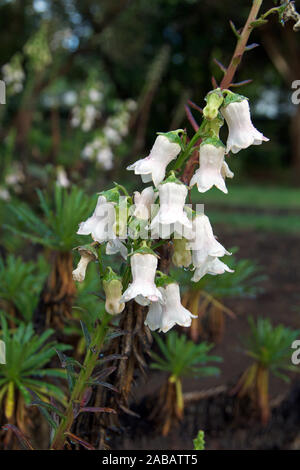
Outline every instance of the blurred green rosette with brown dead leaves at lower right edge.
<svg viewBox="0 0 300 470"><path fill-rule="evenodd" d="M289 382L285 372L298 372L291 363L291 345L300 330L273 326L268 318L249 318L251 333L245 340L245 353L254 361L239 379L232 394L249 396L260 413L262 424L270 418L269 380L274 375Z"/></svg>

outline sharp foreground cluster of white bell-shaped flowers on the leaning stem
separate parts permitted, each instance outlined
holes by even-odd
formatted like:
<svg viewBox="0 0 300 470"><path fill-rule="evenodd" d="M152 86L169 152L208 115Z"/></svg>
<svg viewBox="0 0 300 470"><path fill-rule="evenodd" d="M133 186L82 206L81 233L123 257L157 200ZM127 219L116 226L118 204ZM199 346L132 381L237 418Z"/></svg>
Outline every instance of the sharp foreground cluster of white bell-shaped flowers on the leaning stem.
<svg viewBox="0 0 300 470"><path fill-rule="evenodd" d="M190 182L190 186L197 184L201 193L214 185L227 193L225 177L232 178L233 174L225 162L226 152L231 150L237 153L249 145L268 140L254 128L247 99L226 92L225 99L219 90L208 95L204 109L205 126L199 131L203 133L199 148L199 169ZM216 132L219 123L223 122L220 112L229 128L227 147ZM123 294L121 279L115 273L112 274L111 269L105 279L104 289L106 295L109 295L107 311L120 313L125 303L134 299L138 304L149 307L145 324L151 330L163 332L176 324L190 326L193 315L181 305L177 282L157 271L158 256L151 246L153 239L172 240L172 260L176 266L194 271L193 282L198 282L206 274L233 272L220 260L230 253L216 240L208 217L203 211L195 212L186 205L188 187L177 178L175 171L166 177L167 167L171 163L174 169L178 163L180 171L180 158L183 161L187 153L184 139L180 137L183 132L179 129L159 134L149 156L128 167L128 170L140 175L144 183L152 182L154 187L148 186L141 193L136 191L134 204L127 195L125 205L120 203L119 191L126 194L122 186L116 185L102 192L94 213L80 224L77 232L80 235L91 235L94 243L107 243L106 254L120 253L125 260L130 257L132 282L125 285ZM196 135L195 141L198 138ZM191 152L193 147L189 150ZM159 204L155 206L157 198ZM130 228L134 225L135 229L146 229L148 234L151 232L150 243L146 240L136 243L132 235L134 230L127 230L127 224ZM137 238L142 240L141 232ZM83 264L85 270L86 263ZM78 269L80 264L76 277L82 279L84 276L78 276ZM111 289L110 282L114 282Z"/></svg>

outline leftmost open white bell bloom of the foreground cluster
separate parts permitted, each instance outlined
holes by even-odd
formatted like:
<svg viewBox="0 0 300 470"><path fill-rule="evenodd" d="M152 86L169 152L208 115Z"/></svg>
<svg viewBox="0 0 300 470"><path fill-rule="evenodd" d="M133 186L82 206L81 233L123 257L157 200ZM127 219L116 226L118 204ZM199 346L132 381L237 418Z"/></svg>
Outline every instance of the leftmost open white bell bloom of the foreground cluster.
<svg viewBox="0 0 300 470"><path fill-rule="evenodd" d="M93 240L103 243L116 238L113 227L116 221L115 208L104 196L99 196L91 217L81 222L78 235L92 235Z"/></svg>

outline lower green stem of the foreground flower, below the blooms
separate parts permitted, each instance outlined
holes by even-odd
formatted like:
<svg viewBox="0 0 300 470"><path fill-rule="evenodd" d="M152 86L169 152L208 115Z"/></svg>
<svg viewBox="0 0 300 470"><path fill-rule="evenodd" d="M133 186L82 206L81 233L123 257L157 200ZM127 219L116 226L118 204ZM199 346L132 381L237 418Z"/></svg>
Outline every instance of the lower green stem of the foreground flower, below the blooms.
<svg viewBox="0 0 300 470"><path fill-rule="evenodd" d="M65 443L65 433L71 430L74 421L73 404L81 403L87 383L96 366L99 353L105 340L107 326L111 316L105 313L102 322L97 326L92 343L87 350L83 368L81 369L72 391L65 417L61 420L51 445L53 450L62 450Z"/></svg>

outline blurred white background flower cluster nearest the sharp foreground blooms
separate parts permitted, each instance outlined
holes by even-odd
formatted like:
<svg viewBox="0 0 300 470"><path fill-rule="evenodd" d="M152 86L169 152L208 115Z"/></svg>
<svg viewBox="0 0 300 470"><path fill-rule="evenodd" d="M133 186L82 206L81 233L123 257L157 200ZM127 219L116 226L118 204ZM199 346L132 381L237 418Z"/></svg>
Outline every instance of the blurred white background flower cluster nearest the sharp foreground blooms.
<svg viewBox="0 0 300 470"><path fill-rule="evenodd" d="M96 161L104 170L111 170L114 158L113 148L120 145L123 138L127 136L131 112L135 109L136 103L133 100L117 103L116 114L110 116L97 137L86 144L82 151L82 157L86 160Z"/></svg>

